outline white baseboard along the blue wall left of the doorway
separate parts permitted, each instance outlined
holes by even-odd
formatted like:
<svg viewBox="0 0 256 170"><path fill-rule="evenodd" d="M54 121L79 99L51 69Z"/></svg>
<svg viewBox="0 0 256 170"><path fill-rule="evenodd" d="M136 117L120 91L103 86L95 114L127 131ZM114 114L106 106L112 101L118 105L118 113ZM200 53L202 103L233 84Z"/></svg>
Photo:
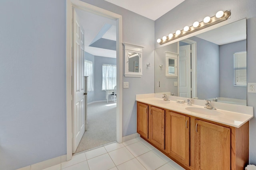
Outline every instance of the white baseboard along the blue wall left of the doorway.
<svg viewBox="0 0 256 170"><path fill-rule="evenodd" d="M52 158L52 159L48 159L48 160L45 160L45 161L42 161L42 162L38 162L38 163L32 164L30 166L19 168L17 170L42 170L42 169L49 168L51 166L60 164L62 162L66 162L66 161L67 161L67 155L64 154L62 156L58 156L58 157L55 157L55 158Z"/></svg>

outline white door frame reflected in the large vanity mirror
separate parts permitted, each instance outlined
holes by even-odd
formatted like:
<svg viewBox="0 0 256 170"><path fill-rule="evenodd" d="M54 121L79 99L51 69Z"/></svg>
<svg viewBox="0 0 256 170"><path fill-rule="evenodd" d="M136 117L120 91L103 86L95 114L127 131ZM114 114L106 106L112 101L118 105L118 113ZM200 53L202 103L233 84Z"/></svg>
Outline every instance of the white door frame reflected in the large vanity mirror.
<svg viewBox="0 0 256 170"><path fill-rule="evenodd" d="M191 45L191 69L192 69L192 74L191 74L191 88L192 88L192 96L191 98L196 98L197 97L197 52L196 52L196 41L193 41L191 39L183 39L181 40L184 43L190 44ZM180 44L178 45L178 52L180 53ZM180 80L178 80L179 83ZM178 84L179 86L179 84ZM179 89L178 89L178 94L179 94Z"/></svg>

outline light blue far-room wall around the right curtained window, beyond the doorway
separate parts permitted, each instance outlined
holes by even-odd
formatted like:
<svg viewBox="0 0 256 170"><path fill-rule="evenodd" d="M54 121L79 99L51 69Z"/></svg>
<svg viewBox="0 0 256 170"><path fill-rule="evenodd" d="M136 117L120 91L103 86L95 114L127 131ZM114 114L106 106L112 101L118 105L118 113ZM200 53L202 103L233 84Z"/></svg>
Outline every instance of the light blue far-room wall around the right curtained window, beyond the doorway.
<svg viewBox="0 0 256 170"><path fill-rule="evenodd" d="M94 101L106 100L106 92L102 91L102 64L115 64L116 59L109 57L94 57Z"/></svg>

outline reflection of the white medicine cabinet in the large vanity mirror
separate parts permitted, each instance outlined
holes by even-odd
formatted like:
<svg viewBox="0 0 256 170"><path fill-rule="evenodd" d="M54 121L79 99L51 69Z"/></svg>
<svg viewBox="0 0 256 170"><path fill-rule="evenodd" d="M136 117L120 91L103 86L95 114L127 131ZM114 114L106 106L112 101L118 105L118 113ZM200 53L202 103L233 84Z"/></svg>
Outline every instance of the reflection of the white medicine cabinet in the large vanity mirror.
<svg viewBox="0 0 256 170"><path fill-rule="evenodd" d="M170 51L165 52L166 57L166 78L174 78L178 76L178 54Z"/></svg>

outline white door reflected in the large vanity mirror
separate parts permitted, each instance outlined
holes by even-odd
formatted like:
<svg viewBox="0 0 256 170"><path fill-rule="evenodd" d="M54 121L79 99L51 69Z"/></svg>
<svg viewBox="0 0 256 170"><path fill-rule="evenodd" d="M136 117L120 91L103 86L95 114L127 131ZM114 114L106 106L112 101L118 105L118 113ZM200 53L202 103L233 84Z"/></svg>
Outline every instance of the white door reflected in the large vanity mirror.
<svg viewBox="0 0 256 170"><path fill-rule="evenodd" d="M190 45L180 46L179 96L191 98L191 53Z"/></svg>

